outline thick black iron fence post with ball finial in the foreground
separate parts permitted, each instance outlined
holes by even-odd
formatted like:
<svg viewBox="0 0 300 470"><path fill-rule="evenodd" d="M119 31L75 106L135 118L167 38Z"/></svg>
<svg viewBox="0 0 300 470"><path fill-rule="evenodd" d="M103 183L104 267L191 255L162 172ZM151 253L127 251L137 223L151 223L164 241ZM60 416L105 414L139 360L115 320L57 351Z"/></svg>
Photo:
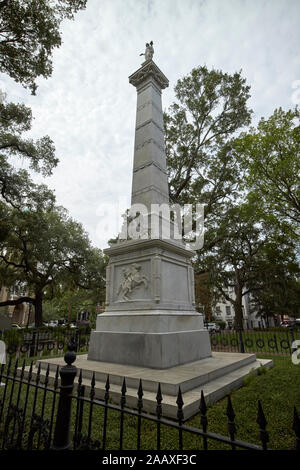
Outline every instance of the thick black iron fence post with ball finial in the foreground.
<svg viewBox="0 0 300 470"><path fill-rule="evenodd" d="M76 344L71 340L68 343L68 351L64 356L64 360L67 365L62 367L59 372L61 377L61 386L52 444L53 450L68 450L71 445L70 424L72 392L74 388L74 379L77 373L77 368L72 365L76 360L75 348Z"/></svg>

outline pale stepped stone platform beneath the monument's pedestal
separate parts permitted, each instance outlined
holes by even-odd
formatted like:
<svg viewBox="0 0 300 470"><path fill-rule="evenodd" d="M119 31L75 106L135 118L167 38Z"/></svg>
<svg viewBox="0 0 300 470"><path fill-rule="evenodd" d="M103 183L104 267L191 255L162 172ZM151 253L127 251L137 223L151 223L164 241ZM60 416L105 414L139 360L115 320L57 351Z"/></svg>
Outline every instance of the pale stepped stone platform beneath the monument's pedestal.
<svg viewBox="0 0 300 470"><path fill-rule="evenodd" d="M36 375L39 363L41 364L42 381L46 368L50 364L50 383L54 380L57 366L65 365L63 358L39 360L33 377ZM250 373L256 373L261 365L272 367L273 361L256 359L255 354L213 352L210 358L163 370L89 361L86 355L77 356L75 365L77 367L75 383L77 383L81 369L86 394L89 393L92 374L95 372L96 398L100 400L104 398L105 383L107 375L109 375L110 398L113 402L120 403L121 385L125 377L126 406L131 408L137 406L137 390L139 380L142 379L144 411L149 413L155 413L156 393L158 383L160 383L165 417L176 418L176 398L180 386L184 401L184 417L189 418L199 410L201 390L203 390L206 402L214 403L230 391L239 388L243 384L243 380ZM29 367L25 369L25 376L27 376L28 369Z"/></svg>

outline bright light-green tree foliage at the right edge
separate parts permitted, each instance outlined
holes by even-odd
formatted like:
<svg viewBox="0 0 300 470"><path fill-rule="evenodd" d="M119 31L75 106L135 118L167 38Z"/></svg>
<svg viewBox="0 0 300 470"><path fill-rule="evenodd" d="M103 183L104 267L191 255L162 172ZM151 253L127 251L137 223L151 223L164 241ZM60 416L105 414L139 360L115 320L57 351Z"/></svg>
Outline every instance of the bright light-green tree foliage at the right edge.
<svg viewBox="0 0 300 470"><path fill-rule="evenodd" d="M237 158L247 168L249 200L259 198L270 223L289 224L299 236L300 112L276 109L235 140Z"/></svg>

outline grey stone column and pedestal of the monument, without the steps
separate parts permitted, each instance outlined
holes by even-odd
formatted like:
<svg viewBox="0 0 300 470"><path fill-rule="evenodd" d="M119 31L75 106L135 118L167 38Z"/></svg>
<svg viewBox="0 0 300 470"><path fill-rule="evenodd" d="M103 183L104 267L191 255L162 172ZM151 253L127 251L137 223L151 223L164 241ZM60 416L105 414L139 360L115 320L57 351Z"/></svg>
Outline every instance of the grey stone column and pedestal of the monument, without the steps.
<svg viewBox="0 0 300 470"><path fill-rule="evenodd" d="M147 57L129 77L137 89L131 203L168 204L161 91L168 79ZM169 368L211 356L195 311L194 252L181 241L125 240L105 250L106 310L92 331L89 360Z"/></svg>

